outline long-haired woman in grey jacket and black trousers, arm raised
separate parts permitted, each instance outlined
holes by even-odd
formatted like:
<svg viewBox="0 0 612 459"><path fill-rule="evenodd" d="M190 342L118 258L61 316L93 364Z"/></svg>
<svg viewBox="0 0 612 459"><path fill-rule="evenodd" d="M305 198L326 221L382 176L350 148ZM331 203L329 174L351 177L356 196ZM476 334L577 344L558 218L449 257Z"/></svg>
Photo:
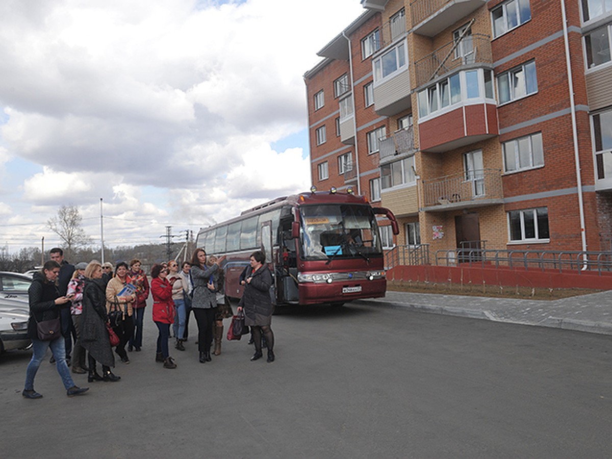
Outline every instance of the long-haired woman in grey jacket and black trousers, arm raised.
<svg viewBox="0 0 612 459"><path fill-rule="evenodd" d="M217 313L217 293L213 274L219 269L225 256L211 256L212 265L206 266L206 252L197 248L192 256L190 276L193 282L192 310L198 323L198 351L202 364L211 361L212 327Z"/></svg>

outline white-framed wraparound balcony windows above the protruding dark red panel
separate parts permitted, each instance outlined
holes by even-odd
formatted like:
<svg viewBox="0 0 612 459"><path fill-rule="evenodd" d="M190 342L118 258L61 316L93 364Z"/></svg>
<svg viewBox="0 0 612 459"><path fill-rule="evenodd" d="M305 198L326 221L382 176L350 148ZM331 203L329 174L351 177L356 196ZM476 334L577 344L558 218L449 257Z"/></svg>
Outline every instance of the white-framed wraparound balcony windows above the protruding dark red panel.
<svg viewBox="0 0 612 459"><path fill-rule="evenodd" d="M438 81L419 92L421 118L446 110L447 107L469 99L493 99L493 72L488 69L463 70Z"/></svg>

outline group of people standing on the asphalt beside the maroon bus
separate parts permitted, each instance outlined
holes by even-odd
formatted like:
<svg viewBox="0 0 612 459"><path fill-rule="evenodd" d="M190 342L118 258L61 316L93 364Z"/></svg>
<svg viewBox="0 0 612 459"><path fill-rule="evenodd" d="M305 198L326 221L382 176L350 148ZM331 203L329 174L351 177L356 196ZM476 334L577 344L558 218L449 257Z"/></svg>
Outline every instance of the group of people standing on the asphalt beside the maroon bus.
<svg viewBox="0 0 612 459"><path fill-rule="evenodd" d="M214 354L221 353L223 319L233 315L223 293L223 270L220 265L225 256L207 258L203 248L193 253L191 266L185 262L179 272L176 261L155 264L151 269L151 285L141 269L139 260L117 264L114 276L105 263L78 263L69 283L68 293L61 296L56 280L60 266L56 261L47 261L40 272L35 273L29 288L30 319L28 336L32 340L32 359L26 370L26 383L22 392L26 398L41 398L34 390L34 377L40 363L51 348L56 367L67 395L80 395L88 387L75 385L65 359L64 337L61 330L56 335L40 334L41 324L59 321L59 306L72 302L71 313L76 332L73 373L88 373L89 383L94 381L116 382L114 354L110 342L110 331L118 335L115 352L124 364L130 360L125 351L140 351L143 340L143 317L146 299L152 295L152 318L158 329L155 360L163 367L176 368L170 356L168 341L170 325L174 324L175 348L184 351L187 340L188 313L193 310L198 326L198 352L201 363L210 362L211 346L215 340ZM261 335L266 338L267 361L273 362L274 334L272 333L272 302L269 289L272 275L262 252L250 256L250 266L245 269L244 294L238 310L244 310L245 324L250 326L255 343L255 354L251 360L263 356ZM105 271L105 272L104 272ZM59 322L58 322L59 323ZM88 362L85 364L85 355ZM102 365L102 375L97 372Z"/></svg>

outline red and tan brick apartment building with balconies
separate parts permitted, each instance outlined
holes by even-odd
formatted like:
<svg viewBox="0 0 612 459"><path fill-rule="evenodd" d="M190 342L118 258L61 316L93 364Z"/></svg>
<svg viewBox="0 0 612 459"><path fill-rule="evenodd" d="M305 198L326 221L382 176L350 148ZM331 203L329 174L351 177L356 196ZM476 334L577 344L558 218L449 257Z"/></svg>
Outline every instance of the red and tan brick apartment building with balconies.
<svg viewBox="0 0 612 459"><path fill-rule="evenodd" d="M304 75L313 185L386 248L611 250L612 1L361 3Z"/></svg>

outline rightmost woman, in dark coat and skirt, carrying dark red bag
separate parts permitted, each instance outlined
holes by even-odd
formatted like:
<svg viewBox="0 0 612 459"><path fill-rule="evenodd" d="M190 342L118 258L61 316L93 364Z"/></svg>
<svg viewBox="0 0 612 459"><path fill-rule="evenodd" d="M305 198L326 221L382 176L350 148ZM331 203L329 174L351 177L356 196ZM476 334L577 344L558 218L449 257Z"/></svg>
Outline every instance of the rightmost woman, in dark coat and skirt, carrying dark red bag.
<svg viewBox="0 0 612 459"><path fill-rule="evenodd" d="M272 274L264 264L265 261L266 256L259 250L251 255L251 272L245 279L244 294L242 294L238 310L241 311L244 308L244 323L253 330L255 354L251 360L257 360L263 356L261 353L261 334L263 333L268 349L267 361L274 362L274 332L271 328L273 307L270 299Z"/></svg>

